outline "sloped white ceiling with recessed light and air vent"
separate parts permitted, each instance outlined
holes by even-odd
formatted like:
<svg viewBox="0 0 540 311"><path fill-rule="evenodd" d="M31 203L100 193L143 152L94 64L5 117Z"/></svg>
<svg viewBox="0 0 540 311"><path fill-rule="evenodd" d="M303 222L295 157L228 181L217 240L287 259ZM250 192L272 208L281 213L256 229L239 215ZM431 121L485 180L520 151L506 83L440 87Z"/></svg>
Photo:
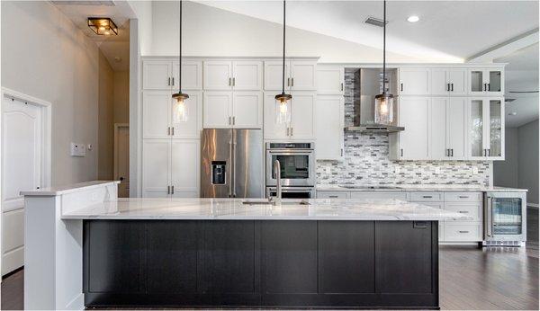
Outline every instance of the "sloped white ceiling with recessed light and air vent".
<svg viewBox="0 0 540 311"><path fill-rule="evenodd" d="M283 22L281 1L196 1L270 22ZM419 22L407 22L418 15ZM287 24L382 48L383 1L290 1ZM462 62L538 27L537 1L388 1L387 49L433 62Z"/></svg>

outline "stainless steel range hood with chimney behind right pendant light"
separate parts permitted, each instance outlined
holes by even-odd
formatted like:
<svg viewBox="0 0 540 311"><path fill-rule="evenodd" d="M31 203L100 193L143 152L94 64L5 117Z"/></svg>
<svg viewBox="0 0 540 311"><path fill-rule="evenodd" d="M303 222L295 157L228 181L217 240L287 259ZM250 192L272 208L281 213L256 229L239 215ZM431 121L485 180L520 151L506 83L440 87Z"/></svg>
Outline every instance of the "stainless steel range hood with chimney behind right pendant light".
<svg viewBox="0 0 540 311"><path fill-rule="evenodd" d="M398 125L399 98L394 101L394 124L376 124L374 122L375 95L383 93L383 69L382 68L345 68L347 74L354 75L353 102L354 117L353 125L345 129L359 132L395 133L405 128ZM397 69L386 69L387 91L398 93Z"/></svg>

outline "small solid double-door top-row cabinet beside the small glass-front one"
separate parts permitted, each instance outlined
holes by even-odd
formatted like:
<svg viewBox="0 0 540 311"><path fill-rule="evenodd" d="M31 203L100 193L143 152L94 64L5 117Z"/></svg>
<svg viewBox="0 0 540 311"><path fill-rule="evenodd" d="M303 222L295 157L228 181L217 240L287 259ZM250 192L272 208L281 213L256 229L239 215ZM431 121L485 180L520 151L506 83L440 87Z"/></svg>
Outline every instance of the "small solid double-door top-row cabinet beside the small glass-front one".
<svg viewBox="0 0 540 311"><path fill-rule="evenodd" d="M431 69L431 93L433 95L467 94L467 69L433 68Z"/></svg>

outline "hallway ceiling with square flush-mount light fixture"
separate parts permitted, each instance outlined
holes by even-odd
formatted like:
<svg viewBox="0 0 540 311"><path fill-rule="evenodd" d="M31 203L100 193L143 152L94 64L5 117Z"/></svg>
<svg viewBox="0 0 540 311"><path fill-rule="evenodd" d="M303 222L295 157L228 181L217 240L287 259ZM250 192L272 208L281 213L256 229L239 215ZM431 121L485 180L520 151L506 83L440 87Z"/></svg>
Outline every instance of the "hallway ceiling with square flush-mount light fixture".
<svg viewBox="0 0 540 311"><path fill-rule="evenodd" d="M102 50L114 71L130 68L130 18L135 18L126 1L53 1ZM117 36L98 36L88 28L88 17L110 17L118 26Z"/></svg>

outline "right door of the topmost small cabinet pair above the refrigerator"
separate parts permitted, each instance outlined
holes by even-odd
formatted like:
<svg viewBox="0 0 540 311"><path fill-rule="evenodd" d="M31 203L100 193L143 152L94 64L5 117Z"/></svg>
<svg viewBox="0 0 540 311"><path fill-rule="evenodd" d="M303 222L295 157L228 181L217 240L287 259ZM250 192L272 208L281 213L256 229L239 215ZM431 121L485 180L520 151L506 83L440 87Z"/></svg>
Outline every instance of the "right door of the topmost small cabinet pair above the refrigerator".
<svg viewBox="0 0 540 311"><path fill-rule="evenodd" d="M263 62L242 60L232 62L233 81L235 90L259 91L263 89Z"/></svg>

